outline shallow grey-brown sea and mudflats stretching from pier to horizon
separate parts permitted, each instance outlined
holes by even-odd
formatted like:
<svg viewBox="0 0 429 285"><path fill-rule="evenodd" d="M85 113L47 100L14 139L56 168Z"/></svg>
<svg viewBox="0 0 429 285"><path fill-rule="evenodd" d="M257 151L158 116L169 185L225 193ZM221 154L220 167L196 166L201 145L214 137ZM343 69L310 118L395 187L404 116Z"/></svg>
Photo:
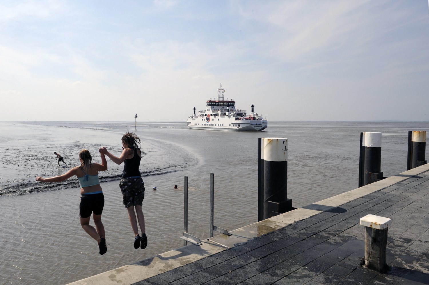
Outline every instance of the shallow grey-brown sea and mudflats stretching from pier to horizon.
<svg viewBox="0 0 429 285"><path fill-rule="evenodd" d="M82 148L121 153L134 122L0 123L0 261L2 284L65 284L183 245L183 181L189 177L188 231L208 237L209 180L215 174L215 225L233 230L257 221L257 138L288 138L288 198L302 207L357 188L360 132L382 132L381 171L406 170L408 131L428 122L270 122L263 132L190 130L182 122L138 123L148 247L133 248L121 202L123 165L100 173L106 198L107 254L79 224L76 178L36 183L66 172ZM57 165L54 151L67 167ZM426 156L427 157L427 156ZM178 190L173 186L177 184ZM152 188L156 186L157 190Z"/></svg>

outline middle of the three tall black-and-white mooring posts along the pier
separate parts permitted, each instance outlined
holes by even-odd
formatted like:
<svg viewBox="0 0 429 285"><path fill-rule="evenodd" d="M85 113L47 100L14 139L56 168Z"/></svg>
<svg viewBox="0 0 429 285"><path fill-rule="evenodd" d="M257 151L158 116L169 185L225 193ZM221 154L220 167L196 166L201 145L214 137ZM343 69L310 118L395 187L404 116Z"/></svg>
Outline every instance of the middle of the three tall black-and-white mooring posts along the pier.
<svg viewBox="0 0 429 285"><path fill-rule="evenodd" d="M381 132L361 132L359 187L383 178L383 172L381 172Z"/></svg>

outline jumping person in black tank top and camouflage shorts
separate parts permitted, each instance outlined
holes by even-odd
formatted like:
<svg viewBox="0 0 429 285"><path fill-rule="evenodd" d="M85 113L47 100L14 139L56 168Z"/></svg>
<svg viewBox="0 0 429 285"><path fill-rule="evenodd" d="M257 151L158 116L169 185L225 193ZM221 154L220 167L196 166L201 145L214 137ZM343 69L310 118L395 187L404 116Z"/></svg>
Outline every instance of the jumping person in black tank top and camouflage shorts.
<svg viewBox="0 0 429 285"><path fill-rule="evenodd" d="M106 154L118 165L124 162L124 171L119 183L119 188L121 188L122 192L122 203L127 208L128 218L130 219L131 228L133 228L134 248L145 249L148 245L148 238L145 231L145 216L142 211L143 199L145 198L145 183L139 171L140 160L142 159L142 152L139 147L141 146L141 140L137 135L130 132L123 135L121 140L123 150L119 157L109 153L106 147L101 147L100 153ZM142 232L141 237L137 219Z"/></svg>

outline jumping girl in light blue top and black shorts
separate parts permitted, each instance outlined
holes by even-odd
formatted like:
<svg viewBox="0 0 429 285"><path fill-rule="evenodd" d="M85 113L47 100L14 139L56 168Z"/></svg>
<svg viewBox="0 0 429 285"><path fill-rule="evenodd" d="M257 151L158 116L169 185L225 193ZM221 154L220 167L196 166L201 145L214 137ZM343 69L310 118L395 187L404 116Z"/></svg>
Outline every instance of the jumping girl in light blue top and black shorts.
<svg viewBox="0 0 429 285"><path fill-rule="evenodd" d="M80 183L81 202L79 205L80 222L82 228L94 240L97 240L100 249L100 254L103 255L107 252L106 235L104 232L104 225L101 222L101 213L104 207L103 189L101 189L100 181L98 179L98 171L105 171L107 169L106 156L100 153L101 164L92 163L91 153L88 150L81 150L79 152L79 160L81 165L75 166L66 173L49 178L36 177L39 182L60 182L64 181L73 175L78 177ZM89 224L91 219L94 219L95 229Z"/></svg>

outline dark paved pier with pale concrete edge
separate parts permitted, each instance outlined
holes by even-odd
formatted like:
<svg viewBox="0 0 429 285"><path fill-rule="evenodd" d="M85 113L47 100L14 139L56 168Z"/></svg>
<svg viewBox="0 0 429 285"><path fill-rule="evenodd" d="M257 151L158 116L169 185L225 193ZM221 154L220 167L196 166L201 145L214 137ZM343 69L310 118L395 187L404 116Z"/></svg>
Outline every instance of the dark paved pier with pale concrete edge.
<svg viewBox="0 0 429 285"><path fill-rule="evenodd" d="M389 217L387 273L360 265ZM71 284L428 284L429 165Z"/></svg>

